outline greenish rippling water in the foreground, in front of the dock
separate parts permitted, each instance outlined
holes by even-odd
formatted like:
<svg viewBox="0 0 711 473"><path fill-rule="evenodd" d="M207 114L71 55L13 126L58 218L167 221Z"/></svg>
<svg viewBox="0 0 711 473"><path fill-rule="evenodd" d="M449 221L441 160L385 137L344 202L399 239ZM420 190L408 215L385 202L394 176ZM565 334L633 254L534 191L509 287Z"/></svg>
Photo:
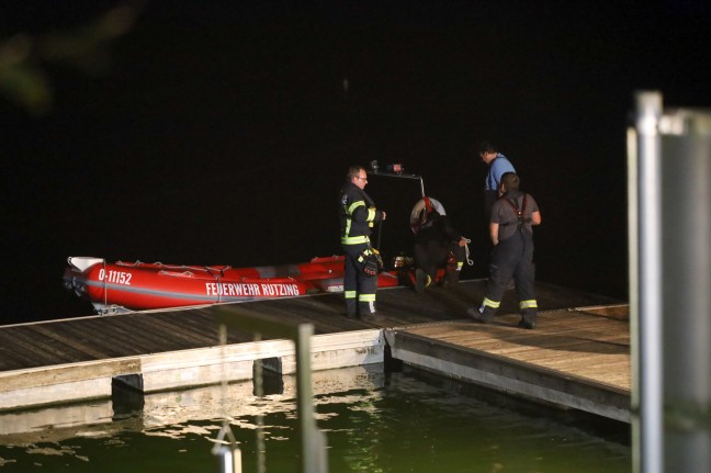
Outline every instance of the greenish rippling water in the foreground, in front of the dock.
<svg viewBox="0 0 711 473"><path fill-rule="evenodd" d="M228 413L242 471L298 471L293 380L251 383L0 417L0 471L218 471L211 449ZM630 428L549 410L419 372L382 367L314 373L331 472L630 472ZM43 416L44 415L44 416ZM93 417L92 417L93 416ZM92 419L93 421L80 420ZM14 430L8 433L8 430Z"/></svg>

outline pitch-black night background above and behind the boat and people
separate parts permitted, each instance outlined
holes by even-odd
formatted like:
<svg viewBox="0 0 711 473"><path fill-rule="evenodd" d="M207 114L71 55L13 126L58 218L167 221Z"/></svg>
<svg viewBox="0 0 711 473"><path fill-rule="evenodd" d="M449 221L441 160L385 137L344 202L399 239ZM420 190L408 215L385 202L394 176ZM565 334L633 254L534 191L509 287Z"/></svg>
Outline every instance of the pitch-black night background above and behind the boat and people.
<svg viewBox="0 0 711 473"><path fill-rule="evenodd" d="M124 4L10 3L4 45ZM539 202L538 279L623 299L633 93L711 106L707 3L125 3L136 21L105 67L35 60L44 113L0 97L0 323L91 314L61 288L68 256L242 267L339 254L338 189L373 159L424 177L473 240L464 277L484 277L482 139ZM414 182L370 179L386 259L411 246Z"/></svg>

